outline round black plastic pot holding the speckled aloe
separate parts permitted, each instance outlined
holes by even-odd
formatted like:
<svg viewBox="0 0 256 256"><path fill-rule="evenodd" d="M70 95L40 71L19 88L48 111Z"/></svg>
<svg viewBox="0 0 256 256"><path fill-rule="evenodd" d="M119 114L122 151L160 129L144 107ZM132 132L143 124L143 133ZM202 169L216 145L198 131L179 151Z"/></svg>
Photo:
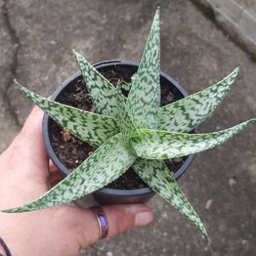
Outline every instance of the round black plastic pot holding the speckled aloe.
<svg viewBox="0 0 256 256"><path fill-rule="evenodd" d="M100 63L96 63L94 65L97 70L106 70L106 69L115 69L121 68L121 69L129 69L133 73L137 71L137 68L139 67L139 63L135 63L133 61L103 61ZM63 89L66 86L69 86L71 82L76 79L77 77L81 76L81 72L77 72L68 79L66 79L55 91L53 96L51 97L52 100L55 100L59 94L63 91ZM172 79L172 77L166 75L166 73L161 72L160 73L160 84L161 85L168 85L172 87L172 90L177 98L184 98L188 96L187 92L179 86L179 84ZM60 162L59 158L55 155L55 152L53 151L53 148L51 146L51 141L49 137L49 117L48 115L44 114L43 119L43 136L44 136L44 143L46 146L46 151L49 154L49 157L63 172L65 176L67 176L70 171ZM194 155L187 156L185 162L183 165L177 170L177 172L174 173L174 178L179 179L181 175L189 168L191 162L193 161ZM112 204L112 203L145 203L148 201L151 197L153 197L155 193L150 189L150 187L145 187L142 189L131 189L131 190L119 190L119 189L108 189L108 188L102 188L98 191L94 192L94 198L98 203L100 204Z"/></svg>

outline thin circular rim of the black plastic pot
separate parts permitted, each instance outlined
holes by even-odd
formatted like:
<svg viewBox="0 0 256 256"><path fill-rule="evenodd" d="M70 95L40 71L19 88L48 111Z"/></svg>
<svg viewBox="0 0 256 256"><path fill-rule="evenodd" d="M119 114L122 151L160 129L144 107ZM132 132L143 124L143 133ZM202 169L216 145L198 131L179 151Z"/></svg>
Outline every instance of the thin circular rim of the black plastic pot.
<svg viewBox="0 0 256 256"><path fill-rule="evenodd" d="M101 62L94 64L94 67L100 68L100 67L108 67L108 66L120 65L120 64L127 65L127 66L132 65L132 66L139 67L139 63L137 63L135 61L120 61L120 60L101 61ZM78 71L78 72L74 73L73 75L71 75L70 77L68 77L67 79L65 79L65 81L62 82L61 85L57 87L57 89L51 96L51 100L55 100L57 98L57 96L59 96L59 94L63 91L63 89L66 86L68 86L70 84L70 82L72 82L74 79L76 79L80 75L82 75L81 71ZM164 73L162 71L160 71L160 76L162 76L162 77L164 77L164 79L168 80L172 84L172 86L177 88L177 90L179 90L179 92L181 92L181 94L183 94L184 97L189 96L189 94L187 94L187 92L183 89L183 87L181 87L177 81L172 79L172 77L170 77L169 75L167 75L166 73ZM51 160L53 161L55 166L57 166L57 168L59 168L59 170L61 170L61 172L67 176L71 172L59 160L59 158L56 156L56 154L53 150L53 147L51 146L51 141L50 141L50 137L49 137L49 115L46 115L45 113L44 113L44 117L43 117L43 121L42 121L42 129L43 129L44 145L46 147L46 152L48 153L49 158L51 158ZM189 168L191 162L193 162L194 158L195 158L194 154L187 156L186 160L183 162L183 165L177 170L177 172L174 172L173 177L175 180L178 180L185 173L187 168ZM104 195L107 194L108 196L113 195L113 197L115 197L115 195L119 195L119 196L123 196L123 197L131 197L131 196L136 196L136 195L150 194L150 193L153 193L153 191L150 187L144 187L142 189L129 189L129 190L102 188L102 189L98 189L98 191L96 191L96 193L104 194Z"/></svg>

